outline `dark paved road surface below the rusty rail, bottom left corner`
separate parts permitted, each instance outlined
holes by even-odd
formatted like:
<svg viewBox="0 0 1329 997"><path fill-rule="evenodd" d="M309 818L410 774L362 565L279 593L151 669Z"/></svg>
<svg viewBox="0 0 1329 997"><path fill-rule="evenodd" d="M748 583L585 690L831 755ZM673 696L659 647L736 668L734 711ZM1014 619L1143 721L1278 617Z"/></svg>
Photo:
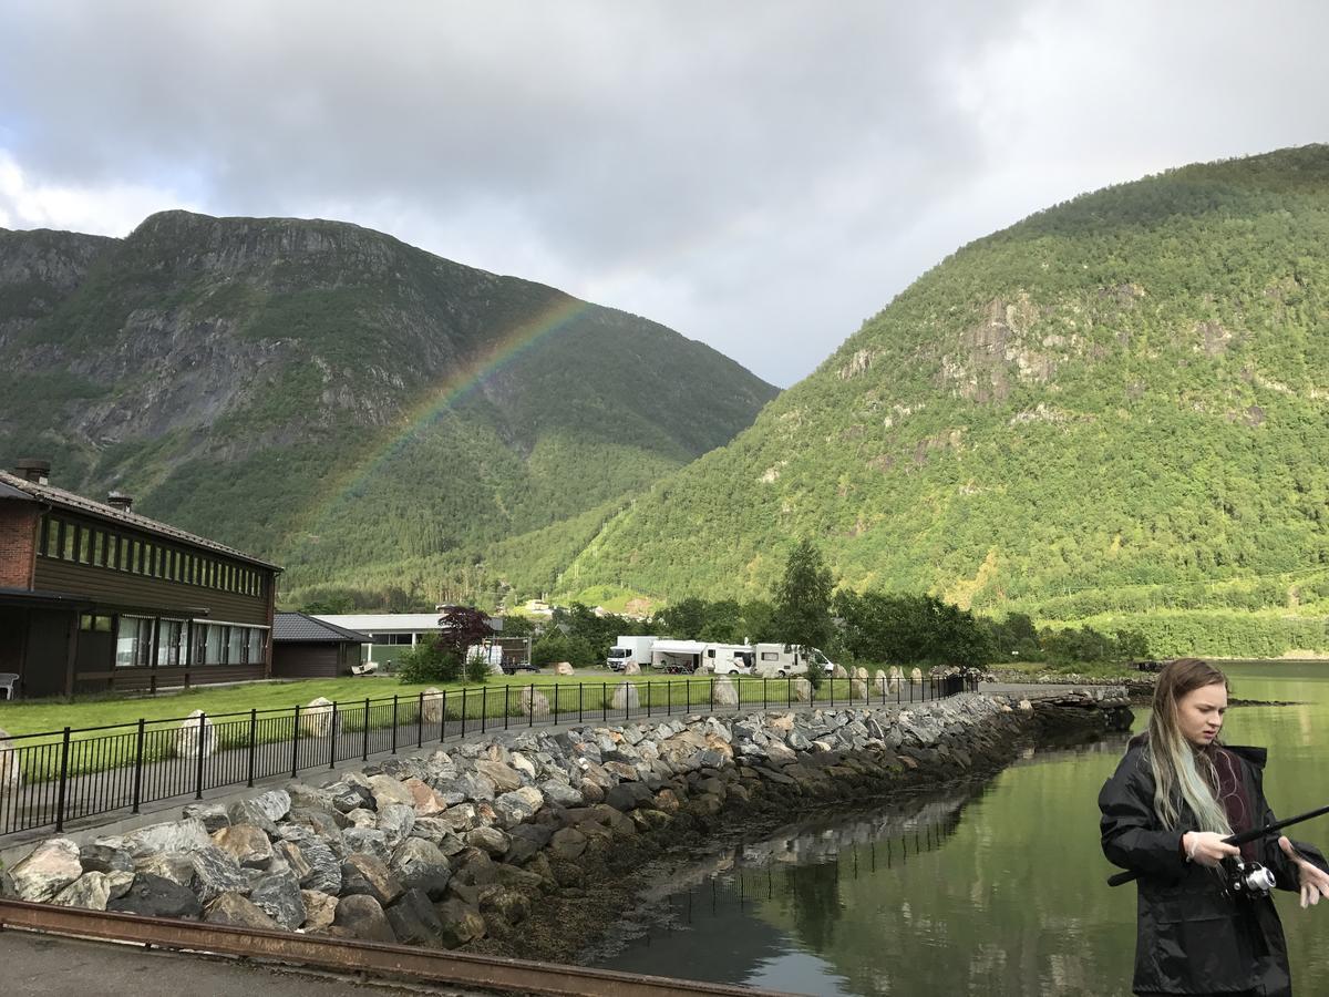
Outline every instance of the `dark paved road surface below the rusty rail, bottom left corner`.
<svg viewBox="0 0 1329 997"><path fill-rule="evenodd" d="M13 997L476 997L452 986L364 984L235 960L146 950L138 945L0 932L0 993Z"/></svg>

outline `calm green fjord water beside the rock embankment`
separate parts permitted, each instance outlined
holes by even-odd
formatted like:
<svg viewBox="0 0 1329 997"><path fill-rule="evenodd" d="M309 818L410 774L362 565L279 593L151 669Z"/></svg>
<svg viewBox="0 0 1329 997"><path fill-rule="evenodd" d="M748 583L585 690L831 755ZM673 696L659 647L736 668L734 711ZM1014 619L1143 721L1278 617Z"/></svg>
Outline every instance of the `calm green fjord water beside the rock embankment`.
<svg viewBox="0 0 1329 997"><path fill-rule="evenodd" d="M1224 738L1269 748L1278 816L1329 803L1329 662L1225 669ZM1138 709L1134 730L1147 714ZM815 994L1130 994L1135 888L1110 889L1096 796L1112 735L1026 751L994 779L724 848L643 903L605 968ZM1329 845L1329 818L1292 835ZM1329 986L1329 905L1280 893L1294 990Z"/></svg>

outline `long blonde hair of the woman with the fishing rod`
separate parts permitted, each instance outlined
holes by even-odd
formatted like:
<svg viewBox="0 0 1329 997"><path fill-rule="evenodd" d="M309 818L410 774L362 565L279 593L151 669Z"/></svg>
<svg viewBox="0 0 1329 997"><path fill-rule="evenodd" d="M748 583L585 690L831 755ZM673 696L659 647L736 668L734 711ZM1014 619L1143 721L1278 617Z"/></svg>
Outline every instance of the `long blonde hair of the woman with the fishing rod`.
<svg viewBox="0 0 1329 997"><path fill-rule="evenodd" d="M1232 833L1228 815L1213 792L1219 783L1213 758L1185 739L1177 717L1177 701L1184 695L1219 685L1227 689L1228 679L1207 661L1177 658L1163 666L1154 687L1154 714L1144 754L1154 772L1154 811L1168 831L1179 830L1184 802L1195 815L1193 830Z"/></svg>

